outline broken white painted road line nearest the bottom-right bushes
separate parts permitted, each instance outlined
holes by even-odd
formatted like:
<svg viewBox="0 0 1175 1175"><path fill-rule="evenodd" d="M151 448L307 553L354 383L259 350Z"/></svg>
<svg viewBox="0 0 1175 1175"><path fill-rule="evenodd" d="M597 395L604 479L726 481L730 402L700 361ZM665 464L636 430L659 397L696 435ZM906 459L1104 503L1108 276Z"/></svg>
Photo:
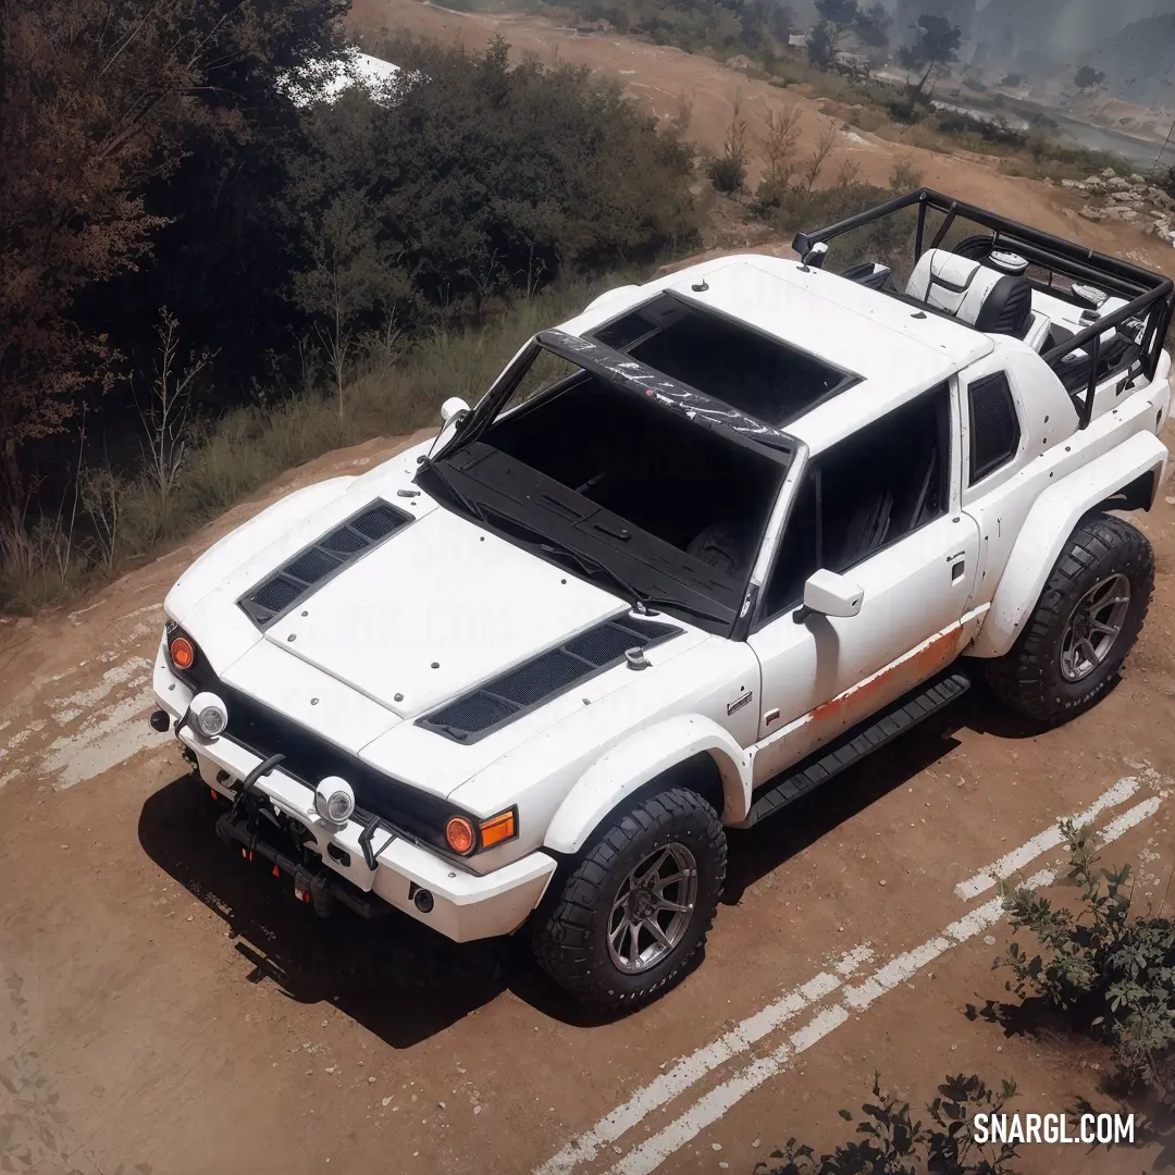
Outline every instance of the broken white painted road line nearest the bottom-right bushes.
<svg viewBox="0 0 1175 1175"><path fill-rule="evenodd" d="M1097 838L1099 844L1110 844L1129 828L1154 815L1160 803L1160 798L1154 797L1124 812L1102 830ZM1052 885L1056 880L1059 868L1041 870L1025 882L1025 887L1040 889ZM919 971L952 947L973 939L1002 918L1003 899L993 898L971 911L959 921L952 922L944 929L942 934L935 935L928 942L889 960L864 983L847 988L844 1002L824 1008L772 1054L753 1061L721 1085L716 1086L664 1129L633 1147L619 1162L609 1168L607 1175L652 1175L652 1171L657 1170L666 1159L696 1139L707 1126L713 1126L748 1093L781 1073L795 1056L847 1022L852 1012L864 1010L874 1000L912 979Z"/></svg>

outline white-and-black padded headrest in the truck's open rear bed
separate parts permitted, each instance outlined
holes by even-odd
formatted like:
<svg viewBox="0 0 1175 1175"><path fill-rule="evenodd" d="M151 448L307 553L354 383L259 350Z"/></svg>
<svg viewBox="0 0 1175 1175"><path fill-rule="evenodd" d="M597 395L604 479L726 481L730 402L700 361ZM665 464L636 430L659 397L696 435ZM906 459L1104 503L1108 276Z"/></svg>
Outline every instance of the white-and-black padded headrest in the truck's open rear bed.
<svg viewBox="0 0 1175 1175"><path fill-rule="evenodd" d="M1032 286L956 253L927 249L906 294L976 330L1023 338L1032 324Z"/></svg>

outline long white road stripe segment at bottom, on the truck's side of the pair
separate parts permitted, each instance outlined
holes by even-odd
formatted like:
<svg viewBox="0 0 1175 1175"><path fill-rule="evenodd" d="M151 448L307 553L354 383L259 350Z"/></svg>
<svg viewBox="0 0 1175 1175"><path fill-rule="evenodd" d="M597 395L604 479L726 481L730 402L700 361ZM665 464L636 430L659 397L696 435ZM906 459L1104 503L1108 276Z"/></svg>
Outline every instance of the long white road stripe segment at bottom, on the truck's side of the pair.
<svg viewBox="0 0 1175 1175"><path fill-rule="evenodd" d="M847 978L872 959L873 952L867 945L855 947L834 964L835 975L821 972L803 987L786 992L763 1010L736 1025L713 1043L683 1058L667 1073L653 1077L647 1086L642 1086L623 1106L602 1117L590 1130L572 1139L557 1155L537 1168L535 1175L566 1175L579 1163L590 1162L602 1147L615 1142L653 1110L697 1085L707 1073L747 1052L752 1045L799 1015L806 1007L837 991L841 985L838 975Z"/></svg>

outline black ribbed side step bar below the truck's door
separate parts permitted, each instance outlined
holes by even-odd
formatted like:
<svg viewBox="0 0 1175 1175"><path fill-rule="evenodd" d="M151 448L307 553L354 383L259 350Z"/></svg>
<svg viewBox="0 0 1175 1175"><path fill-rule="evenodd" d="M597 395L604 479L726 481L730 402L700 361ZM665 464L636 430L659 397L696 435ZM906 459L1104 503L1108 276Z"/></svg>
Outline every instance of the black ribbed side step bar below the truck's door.
<svg viewBox="0 0 1175 1175"><path fill-rule="evenodd" d="M915 693L906 694L880 717L867 719L867 725L850 730L831 746L821 747L815 756L792 767L778 781L766 785L751 804L746 822L739 827L750 828L764 817L773 815L801 795L815 791L833 776L859 763L871 751L884 746L891 739L904 734L935 711L961 698L971 689L971 678L960 670L953 670L936 678Z"/></svg>

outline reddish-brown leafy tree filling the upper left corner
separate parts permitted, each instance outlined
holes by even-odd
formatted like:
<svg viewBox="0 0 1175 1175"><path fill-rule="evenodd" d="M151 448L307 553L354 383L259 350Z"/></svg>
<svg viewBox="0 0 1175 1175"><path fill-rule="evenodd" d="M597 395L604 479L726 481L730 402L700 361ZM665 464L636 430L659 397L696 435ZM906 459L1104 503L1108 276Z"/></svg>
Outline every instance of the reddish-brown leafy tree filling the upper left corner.
<svg viewBox="0 0 1175 1175"><path fill-rule="evenodd" d="M146 266L168 221L149 189L175 175L193 127L239 129L280 49L315 22L329 45L345 7L0 0L0 505L14 518L24 451L125 375L79 303Z"/></svg>

